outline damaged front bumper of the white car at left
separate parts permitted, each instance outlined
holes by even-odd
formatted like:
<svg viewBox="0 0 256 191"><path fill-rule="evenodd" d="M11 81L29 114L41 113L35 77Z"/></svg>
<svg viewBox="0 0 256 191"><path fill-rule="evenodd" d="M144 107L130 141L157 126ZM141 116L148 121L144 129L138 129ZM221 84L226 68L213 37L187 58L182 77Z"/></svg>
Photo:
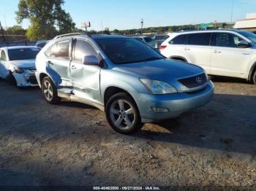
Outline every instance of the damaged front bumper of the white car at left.
<svg viewBox="0 0 256 191"><path fill-rule="evenodd" d="M33 71L24 71L22 74L13 72L12 75L15 77L18 87L38 86L37 79Z"/></svg>

